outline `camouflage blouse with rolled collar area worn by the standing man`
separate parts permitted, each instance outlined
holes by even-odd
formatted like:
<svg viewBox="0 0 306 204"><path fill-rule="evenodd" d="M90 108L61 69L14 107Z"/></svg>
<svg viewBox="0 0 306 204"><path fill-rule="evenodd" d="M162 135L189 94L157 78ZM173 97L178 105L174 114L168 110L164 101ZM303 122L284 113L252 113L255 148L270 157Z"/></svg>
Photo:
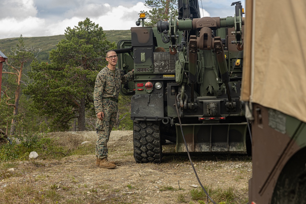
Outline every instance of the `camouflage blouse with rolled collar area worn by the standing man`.
<svg viewBox="0 0 306 204"><path fill-rule="evenodd" d="M103 98L118 98L121 84L134 79L134 71L124 75L123 70L116 68L115 75L108 67L103 68L97 75L94 89L95 112L103 112Z"/></svg>

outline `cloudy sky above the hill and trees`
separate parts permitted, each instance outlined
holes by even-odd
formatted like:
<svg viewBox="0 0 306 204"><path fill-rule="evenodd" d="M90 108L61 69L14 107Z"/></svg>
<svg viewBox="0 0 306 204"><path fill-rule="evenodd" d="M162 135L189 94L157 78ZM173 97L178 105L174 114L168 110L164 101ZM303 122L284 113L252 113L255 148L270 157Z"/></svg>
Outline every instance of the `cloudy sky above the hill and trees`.
<svg viewBox="0 0 306 204"><path fill-rule="evenodd" d="M233 0L198 0L201 16L227 17L235 13ZM63 35L86 17L103 30L136 27L145 0L1 0L0 39ZM245 0L242 6L245 7Z"/></svg>

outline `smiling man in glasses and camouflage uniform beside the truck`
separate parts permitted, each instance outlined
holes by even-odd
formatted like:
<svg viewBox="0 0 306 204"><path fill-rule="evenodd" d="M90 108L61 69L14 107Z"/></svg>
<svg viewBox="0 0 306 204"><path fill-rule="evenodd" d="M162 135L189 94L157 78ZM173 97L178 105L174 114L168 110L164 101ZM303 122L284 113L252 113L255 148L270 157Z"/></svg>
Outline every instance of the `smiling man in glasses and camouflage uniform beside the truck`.
<svg viewBox="0 0 306 204"><path fill-rule="evenodd" d="M97 114L96 130L96 166L100 168L116 168L115 162L107 160L107 142L116 121L118 112L118 96L121 83L134 79L134 70L124 75L123 70L116 69L118 56L114 50L106 53L108 65L97 75L94 89L94 104Z"/></svg>

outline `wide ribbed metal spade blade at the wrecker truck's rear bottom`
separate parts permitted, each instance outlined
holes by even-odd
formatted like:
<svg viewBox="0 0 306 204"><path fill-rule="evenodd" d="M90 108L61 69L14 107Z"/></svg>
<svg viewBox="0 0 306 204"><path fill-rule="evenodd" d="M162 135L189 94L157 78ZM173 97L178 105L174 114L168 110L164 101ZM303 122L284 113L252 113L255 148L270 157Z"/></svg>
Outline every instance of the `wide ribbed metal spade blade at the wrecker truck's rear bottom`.
<svg viewBox="0 0 306 204"><path fill-rule="evenodd" d="M176 152L186 152L180 124L177 132ZM246 152L248 124L182 124L190 152Z"/></svg>

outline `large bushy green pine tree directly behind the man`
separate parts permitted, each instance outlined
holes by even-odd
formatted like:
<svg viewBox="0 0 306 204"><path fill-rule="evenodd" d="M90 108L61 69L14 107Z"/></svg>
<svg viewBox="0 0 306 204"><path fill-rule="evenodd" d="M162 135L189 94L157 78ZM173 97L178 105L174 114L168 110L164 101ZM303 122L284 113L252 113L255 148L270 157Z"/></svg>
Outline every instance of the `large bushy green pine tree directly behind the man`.
<svg viewBox="0 0 306 204"><path fill-rule="evenodd" d="M86 18L65 30L56 50L50 52L51 64L33 63L34 83L27 93L41 114L53 118L55 127L67 130L77 118L78 130L85 130L85 111L93 103L97 73L106 65L106 50L115 43L106 39L103 28Z"/></svg>

